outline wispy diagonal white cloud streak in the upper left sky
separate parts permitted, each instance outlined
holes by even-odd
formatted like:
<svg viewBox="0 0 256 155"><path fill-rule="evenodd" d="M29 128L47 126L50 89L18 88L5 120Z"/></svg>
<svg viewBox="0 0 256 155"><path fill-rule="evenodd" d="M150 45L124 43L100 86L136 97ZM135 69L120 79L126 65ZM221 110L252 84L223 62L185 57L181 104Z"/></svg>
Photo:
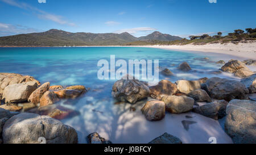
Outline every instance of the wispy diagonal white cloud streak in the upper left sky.
<svg viewBox="0 0 256 155"><path fill-rule="evenodd" d="M49 14L48 12L45 12L36 7L30 6L24 2L16 2L14 0L0 0L0 1L5 2L12 6L19 7L20 9L35 11L38 14L38 17L42 18L42 19L51 20L51 21L59 23L59 24L66 24L68 26L76 26L76 24L69 23L67 20L64 20L63 17L60 15Z"/></svg>

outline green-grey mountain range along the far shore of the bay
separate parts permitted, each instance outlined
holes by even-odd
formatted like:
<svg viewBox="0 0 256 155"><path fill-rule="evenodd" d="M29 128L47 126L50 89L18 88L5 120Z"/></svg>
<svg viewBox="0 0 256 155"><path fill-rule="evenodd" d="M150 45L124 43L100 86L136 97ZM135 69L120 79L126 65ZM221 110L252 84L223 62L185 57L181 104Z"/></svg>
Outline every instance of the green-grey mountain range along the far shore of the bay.
<svg viewBox="0 0 256 155"><path fill-rule="evenodd" d="M125 45L133 41L159 40L174 41L181 37L163 34L158 31L147 36L135 37L123 33L85 33L67 32L51 29L46 32L27 33L0 37L0 47L52 47L52 46L85 46L85 45Z"/></svg>

